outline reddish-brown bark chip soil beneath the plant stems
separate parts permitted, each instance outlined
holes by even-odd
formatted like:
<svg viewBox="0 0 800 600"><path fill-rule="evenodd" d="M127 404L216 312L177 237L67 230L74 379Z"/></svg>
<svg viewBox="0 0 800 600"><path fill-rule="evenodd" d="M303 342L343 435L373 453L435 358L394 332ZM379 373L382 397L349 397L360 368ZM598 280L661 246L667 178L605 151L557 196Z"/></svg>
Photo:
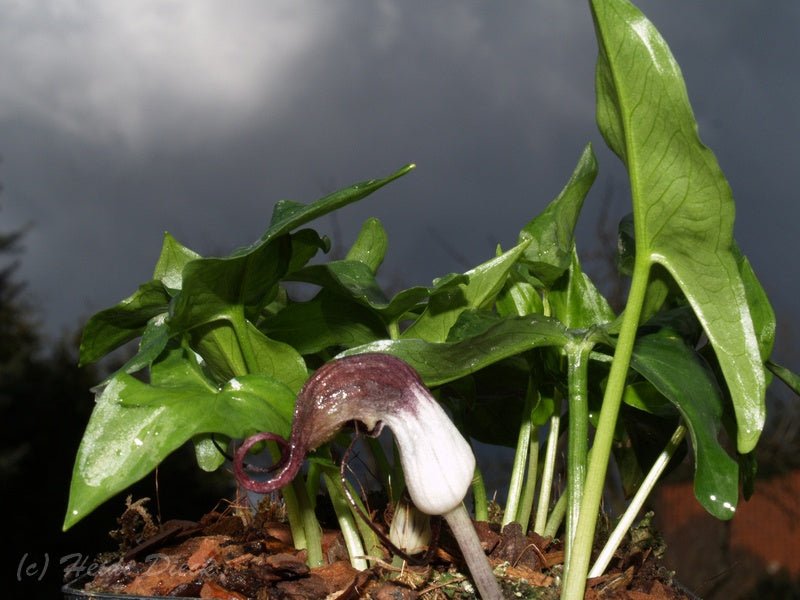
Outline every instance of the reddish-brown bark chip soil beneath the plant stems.
<svg viewBox="0 0 800 600"><path fill-rule="evenodd" d="M386 558L373 561L366 571L350 566L340 534L326 532L327 564L309 569L305 551L292 547L288 527L272 517L269 509L255 517L213 512L199 523L168 521L156 526L141 502L129 502L121 529L113 532L121 541L120 553L84 589L228 600L475 598L457 546L446 531L427 565L393 566ZM563 561L559 544L536 534L523 535L517 524L500 532L497 526L476 523L476 530L507 597L558 598ZM693 599L660 566L655 541L639 536L637 543L628 544L606 575L590 580L586 598Z"/></svg>

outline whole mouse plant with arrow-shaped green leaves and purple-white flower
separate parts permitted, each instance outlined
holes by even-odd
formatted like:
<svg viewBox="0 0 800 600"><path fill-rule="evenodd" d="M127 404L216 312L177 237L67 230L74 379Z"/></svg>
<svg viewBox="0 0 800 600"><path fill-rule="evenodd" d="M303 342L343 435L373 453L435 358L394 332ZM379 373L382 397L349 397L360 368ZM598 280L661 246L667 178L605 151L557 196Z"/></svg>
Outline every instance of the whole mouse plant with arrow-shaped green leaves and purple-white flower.
<svg viewBox="0 0 800 600"><path fill-rule="evenodd" d="M578 259L575 225L597 173L591 146L516 245L393 295L377 275L387 250L380 222L366 221L345 258L327 261L318 254L328 239L306 226L413 165L311 204L281 201L263 236L228 256L202 257L167 234L153 278L85 328L83 363L140 342L97 387L64 527L191 442L200 468L230 464L227 455L245 487L280 490L291 543L309 567L325 562L315 510L324 489L353 568L367 569L390 553L344 477L346 461L334 459L359 429L376 435L384 425L394 451L367 437L364 452L395 510L393 545L405 545L402 519L403 533L417 536L406 548L431 546L429 516L445 515L487 598L503 586L511 593L512 578L508 564L487 561L463 504L489 520L473 439L515 448L499 523L526 540L560 540L548 585L562 598L582 598L587 579L598 584L619 562L647 494L687 443L698 502L733 517L740 482L752 492L771 376L800 385L770 361L774 314L733 240L731 190L698 137L666 43L627 0L590 6L597 122L631 188L617 252L630 278L623 311ZM313 295L296 297L297 283ZM271 454L271 475L248 474L254 448ZM631 500L593 553L612 461Z"/></svg>

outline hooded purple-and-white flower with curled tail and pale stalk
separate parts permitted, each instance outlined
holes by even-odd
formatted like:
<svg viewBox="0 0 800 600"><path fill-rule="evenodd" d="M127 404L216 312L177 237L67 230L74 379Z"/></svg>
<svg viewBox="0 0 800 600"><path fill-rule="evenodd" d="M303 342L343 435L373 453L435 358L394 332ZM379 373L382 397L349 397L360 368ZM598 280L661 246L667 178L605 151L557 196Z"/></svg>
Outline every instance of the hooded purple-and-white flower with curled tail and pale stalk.
<svg viewBox="0 0 800 600"><path fill-rule="evenodd" d="M423 513L445 518L481 596L501 598L463 505L475 471L475 456L416 371L399 358L368 353L320 367L297 396L289 440L268 432L249 437L236 452L236 477L255 492L277 490L294 479L309 452L353 422L373 436L389 427L400 450L412 502ZM244 472L243 461L253 445L265 440L281 446L282 458L274 477L256 481Z"/></svg>

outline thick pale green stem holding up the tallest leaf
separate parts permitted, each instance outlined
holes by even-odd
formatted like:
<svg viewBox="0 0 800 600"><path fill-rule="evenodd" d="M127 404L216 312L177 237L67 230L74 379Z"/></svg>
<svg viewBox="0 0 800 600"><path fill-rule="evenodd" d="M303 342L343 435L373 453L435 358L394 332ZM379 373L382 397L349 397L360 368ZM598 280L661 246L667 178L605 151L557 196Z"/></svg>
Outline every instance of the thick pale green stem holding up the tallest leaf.
<svg viewBox="0 0 800 600"><path fill-rule="evenodd" d="M644 258L643 258L644 257ZM650 274L650 264L644 253L636 255L634 263L631 289L628 294L628 303L625 306L625 315L622 320L622 329L617 340L614 352L614 361L608 374L606 391L603 396L603 405L595 433L592 457L589 461L589 470L583 501L580 509L580 519L574 540L574 547L567 565L566 579L561 592L563 600L579 600L583 598L586 589L586 576L589 572L592 542L597 527L597 517L600 512L600 501L603 497L608 460L611 455L611 444L614 441L614 429L617 425L619 407L622 402L622 393L625 390L625 380L628 376L628 367L636 342L636 331L639 327L639 317L647 292L647 279Z"/></svg>

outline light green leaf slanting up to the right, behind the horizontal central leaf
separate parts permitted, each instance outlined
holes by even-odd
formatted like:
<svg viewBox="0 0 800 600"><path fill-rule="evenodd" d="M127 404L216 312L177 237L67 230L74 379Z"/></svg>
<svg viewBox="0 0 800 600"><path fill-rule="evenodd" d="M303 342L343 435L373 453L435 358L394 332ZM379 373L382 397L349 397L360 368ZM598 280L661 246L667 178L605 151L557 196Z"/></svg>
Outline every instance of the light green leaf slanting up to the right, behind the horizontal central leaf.
<svg viewBox="0 0 800 600"><path fill-rule="evenodd" d="M509 271L528 247L522 242L493 258L467 271L464 275L469 281L448 291L433 295L420 317L402 333L403 338L419 338L429 342L443 342L458 316L470 308L483 308L494 301L503 288Z"/></svg>

